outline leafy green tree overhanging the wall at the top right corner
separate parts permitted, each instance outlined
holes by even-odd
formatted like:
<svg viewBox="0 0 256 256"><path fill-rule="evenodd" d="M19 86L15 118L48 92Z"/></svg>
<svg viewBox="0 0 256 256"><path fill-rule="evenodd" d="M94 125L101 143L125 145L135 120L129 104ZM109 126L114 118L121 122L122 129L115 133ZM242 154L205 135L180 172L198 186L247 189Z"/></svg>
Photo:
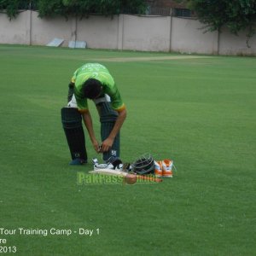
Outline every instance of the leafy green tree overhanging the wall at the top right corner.
<svg viewBox="0 0 256 256"><path fill-rule="evenodd" d="M188 0L186 2L189 9L195 10L199 20L206 24L207 31L221 32L223 26L227 26L230 32L236 35L238 32L247 31L247 47L249 47L248 40L255 34L255 0Z"/></svg>

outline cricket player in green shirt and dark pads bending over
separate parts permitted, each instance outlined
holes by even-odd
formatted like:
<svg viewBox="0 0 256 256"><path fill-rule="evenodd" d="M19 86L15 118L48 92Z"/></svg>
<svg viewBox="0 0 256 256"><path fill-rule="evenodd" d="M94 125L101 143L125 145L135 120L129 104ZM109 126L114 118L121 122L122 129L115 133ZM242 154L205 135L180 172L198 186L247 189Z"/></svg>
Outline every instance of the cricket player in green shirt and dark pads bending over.
<svg viewBox="0 0 256 256"><path fill-rule="evenodd" d="M95 102L100 116L102 143L96 140L88 99ZM67 101L67 107L61 108L61 121L73 159L70 164L87 162L82 119L94 149L103 154L103 160L119 157L119 131L126 118L126 108L108 69L99 63L79 67L69 84Z"/></svg>

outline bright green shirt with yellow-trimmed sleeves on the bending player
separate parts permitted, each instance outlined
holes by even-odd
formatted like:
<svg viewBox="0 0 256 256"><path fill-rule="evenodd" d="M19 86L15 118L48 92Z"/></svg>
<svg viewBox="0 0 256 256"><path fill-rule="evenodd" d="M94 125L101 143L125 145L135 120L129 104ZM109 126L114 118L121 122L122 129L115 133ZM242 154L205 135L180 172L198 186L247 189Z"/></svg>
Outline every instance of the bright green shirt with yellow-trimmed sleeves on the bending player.
<svg viewBox="0 0 256 256"><path fill-rule="evenodd" d="M87 79L97 79L102 83L102 93L108 94L111 99L111 106L117 111L125 108L125 104L121 99L119 90L114 83L113 77L108 72L107 67L99 63L87 63L79 67L73 74L71 81L74 85L74 96L78 103L80 112L88 109L87 98L83 97L82 85Z"/></svg>

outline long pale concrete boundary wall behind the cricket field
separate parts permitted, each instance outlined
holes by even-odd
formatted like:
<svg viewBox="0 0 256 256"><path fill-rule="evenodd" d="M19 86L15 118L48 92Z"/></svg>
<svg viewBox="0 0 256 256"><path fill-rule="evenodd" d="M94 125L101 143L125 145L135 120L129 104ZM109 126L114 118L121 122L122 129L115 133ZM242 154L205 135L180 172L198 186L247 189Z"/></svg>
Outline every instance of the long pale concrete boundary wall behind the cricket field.
<svg viewBox="0 0 256 256"><path fill-rule="evenodd" d="M91 15L79 20L70 17L40 19L34 11L24 11L15 20L0 14L0 44L48 44L53 38L85 41L92 49L132 49L177 51L200 54L256 55L256 36L247 48L246 32L239 36L207 32L198 20L171 16Z"/></svg>

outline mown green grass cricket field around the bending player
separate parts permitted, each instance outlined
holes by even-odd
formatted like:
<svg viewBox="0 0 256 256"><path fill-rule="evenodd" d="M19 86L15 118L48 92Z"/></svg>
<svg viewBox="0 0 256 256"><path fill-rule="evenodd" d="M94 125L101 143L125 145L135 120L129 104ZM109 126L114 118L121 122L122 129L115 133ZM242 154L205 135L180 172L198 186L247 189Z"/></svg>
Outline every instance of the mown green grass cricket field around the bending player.
<svg viewBox="0 0 256 256"><path fill-rule="evenodd" d="M155 58L163 56L179 55L0 46L1 250L16 247L14 255L38 256L256 255L256 59ZM113 60L131 57L136 59ZM74 70L98 60L113 74L128 110L121 159L132 162L144 153L171 158L173 178L77 184L77 173L92 165L68 165L60 109ZM91 102L90 110L100 139ZM100 158L85 137L89 159ZM19 228L73 234L20 235ZM80 228L94 233L75 234ZM3 229L17 231L6 235Z"/></svg>

